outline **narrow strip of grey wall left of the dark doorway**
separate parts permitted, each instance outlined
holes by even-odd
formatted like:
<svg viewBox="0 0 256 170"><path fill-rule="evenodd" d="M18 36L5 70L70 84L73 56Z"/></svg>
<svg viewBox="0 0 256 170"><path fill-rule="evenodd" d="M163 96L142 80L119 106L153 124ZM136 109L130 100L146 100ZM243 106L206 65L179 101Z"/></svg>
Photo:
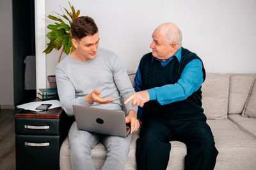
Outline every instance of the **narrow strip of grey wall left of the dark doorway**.
<svg viewBox="0 0 256 170"><path fill-rule="evenodd" d="M0 105L13 108L12 1L0 2Z"/></svg>

